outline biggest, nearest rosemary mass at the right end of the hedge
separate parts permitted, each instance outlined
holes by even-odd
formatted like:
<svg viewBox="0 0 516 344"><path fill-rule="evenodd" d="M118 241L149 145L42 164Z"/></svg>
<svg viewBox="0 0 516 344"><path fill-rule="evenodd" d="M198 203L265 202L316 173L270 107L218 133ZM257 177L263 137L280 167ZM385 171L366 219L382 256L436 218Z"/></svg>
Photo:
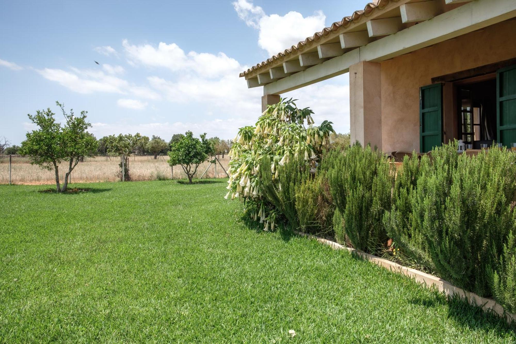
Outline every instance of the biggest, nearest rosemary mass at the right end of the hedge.
<svg viewBox="0 0 516 344"><path fill-rule="evenodd" d="M404 160L384 216L405 255L454 285L516 309L516 154L457 154L456 144Z"/></svg>

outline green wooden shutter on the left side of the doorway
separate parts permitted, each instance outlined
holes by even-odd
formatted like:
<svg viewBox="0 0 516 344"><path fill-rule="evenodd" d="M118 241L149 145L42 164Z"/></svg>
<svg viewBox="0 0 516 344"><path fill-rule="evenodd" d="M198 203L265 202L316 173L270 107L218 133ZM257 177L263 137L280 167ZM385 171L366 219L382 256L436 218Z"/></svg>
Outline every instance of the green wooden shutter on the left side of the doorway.
<svg viewBox="0 0 516 344"><path fill-rule="evenodd" d="M442 84L420 88L420 148L422 153L443 143Z"/></svg>

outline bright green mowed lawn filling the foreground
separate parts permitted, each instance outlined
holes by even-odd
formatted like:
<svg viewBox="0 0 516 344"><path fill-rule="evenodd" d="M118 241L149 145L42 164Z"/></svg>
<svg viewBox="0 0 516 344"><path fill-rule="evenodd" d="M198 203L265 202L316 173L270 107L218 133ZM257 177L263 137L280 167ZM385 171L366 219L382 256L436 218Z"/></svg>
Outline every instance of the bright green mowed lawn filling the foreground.
<svg viewBox="0 0 516 344"><path fill-rule="evenodd" d="M406 277L257 230L225 185L0 186L0 342L516 341Z"/></svg>

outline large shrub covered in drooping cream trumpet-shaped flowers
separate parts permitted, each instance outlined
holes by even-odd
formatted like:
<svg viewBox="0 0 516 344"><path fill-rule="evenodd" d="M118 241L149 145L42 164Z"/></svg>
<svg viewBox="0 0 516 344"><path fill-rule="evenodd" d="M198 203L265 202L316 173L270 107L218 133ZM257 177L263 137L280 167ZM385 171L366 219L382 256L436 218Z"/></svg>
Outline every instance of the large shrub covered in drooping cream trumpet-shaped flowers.
<svg viewBox="0 0 516 344"><path fill-rule="evenodd" d="M229 192L225 198L239 198L249 216L270 230L278 224L278 210L265 199L258 180L263 157L269 157L270 174L276 180L280 166L298 155L315 165L329 148L330 134L334 133L329 121L314 127L313 111L308 107L298 108L295 101L282 99L269 105L254 127L238 130L229 152Z"/></svg>

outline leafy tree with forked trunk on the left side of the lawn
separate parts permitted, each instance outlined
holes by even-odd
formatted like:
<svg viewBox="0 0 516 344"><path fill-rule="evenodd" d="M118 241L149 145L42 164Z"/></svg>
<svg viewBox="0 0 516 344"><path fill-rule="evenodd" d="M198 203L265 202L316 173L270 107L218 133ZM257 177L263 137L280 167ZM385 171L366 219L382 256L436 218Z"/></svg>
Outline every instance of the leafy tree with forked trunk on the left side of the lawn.
<svg viewBox="0 0 516 344"><path fill-rule="evenodd" d="M22 142L20 154L28 155L31 164L39 165L41 168L52 170L56 175L57 192L65 192L68 188L68 177L77 164L85 157L92 157L97 149L95 137L86 130L91 124L86 121L87 111L80 112L75 116L73 110L70 114L65 111L65 106L56 102L65 116L65 126L57 123L54 113L47 108L46 111L37 111L36 115L27 116L39 129L27 133L26 139ZM59 183L59 164L61 161L68 161L68 171L65 174L65 182L62 187Z"/></svg>

